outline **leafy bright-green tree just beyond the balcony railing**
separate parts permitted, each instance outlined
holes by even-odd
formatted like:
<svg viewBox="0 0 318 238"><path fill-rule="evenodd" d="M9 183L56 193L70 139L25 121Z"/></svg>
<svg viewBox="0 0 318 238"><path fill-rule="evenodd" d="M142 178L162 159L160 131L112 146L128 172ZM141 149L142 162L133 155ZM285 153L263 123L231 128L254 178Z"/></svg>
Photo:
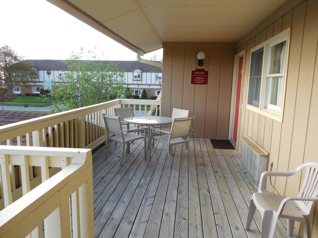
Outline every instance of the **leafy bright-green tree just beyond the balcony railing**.
<svg viewBox="0 0 318 238"><path fill-rule="evenodd" d="M83 57L88 60L82 60ZM60 77L59 82L52 81L50 95L54 97L54 112L126 97L124 71L119 71L117 64L105 64L93 50L86 55L81 48L65 63L68 70L63 72L64 77Z"/></svg>

